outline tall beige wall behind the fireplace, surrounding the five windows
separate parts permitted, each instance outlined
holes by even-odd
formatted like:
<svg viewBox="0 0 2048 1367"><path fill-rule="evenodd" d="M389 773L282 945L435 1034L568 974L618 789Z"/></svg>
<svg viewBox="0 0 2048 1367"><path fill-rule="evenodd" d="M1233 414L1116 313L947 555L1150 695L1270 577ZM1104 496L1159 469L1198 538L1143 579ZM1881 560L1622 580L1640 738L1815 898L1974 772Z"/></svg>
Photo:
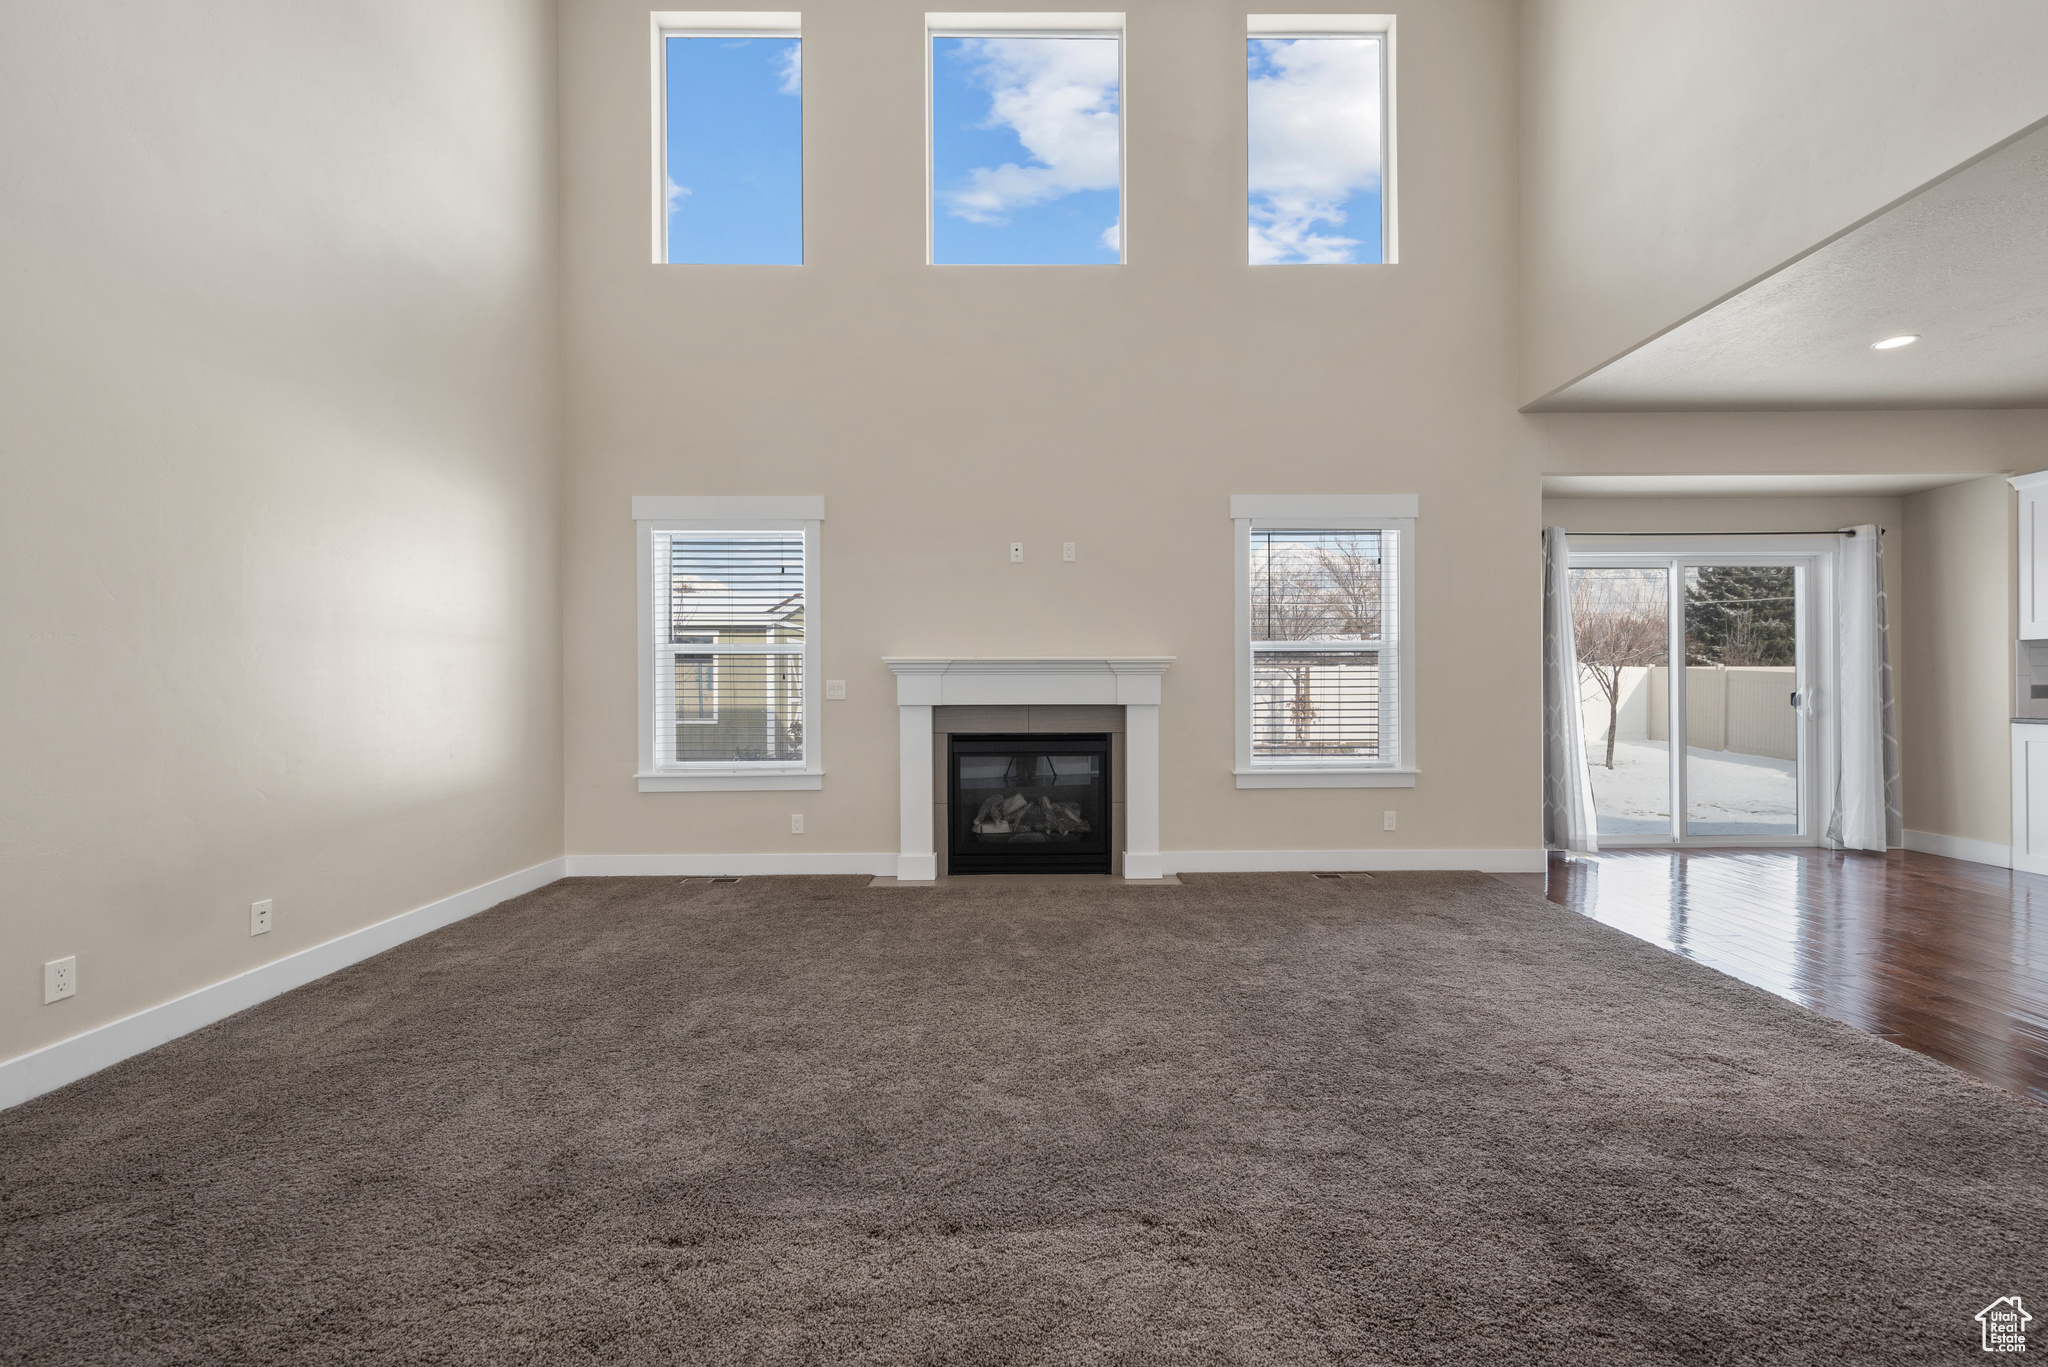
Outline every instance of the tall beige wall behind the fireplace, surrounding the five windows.
<svg viewBox="0 0 2048 1367"><path fill-rule="evenodd" d="M922 264L922 18L805 6L809 264L719 268L647 264L647 8L563 8L569 848L895 851L881 658L1094 652L1178 656L1167 851L1538 846L1511 6L1401 12L1393 268L1245 264L1245 8L1221 0L1128 6L1128 266ZM1245 492L1421 496L1419 787L1235 789ZM825 496L848 699L823 791L635 791L633 494Z"/></svg>

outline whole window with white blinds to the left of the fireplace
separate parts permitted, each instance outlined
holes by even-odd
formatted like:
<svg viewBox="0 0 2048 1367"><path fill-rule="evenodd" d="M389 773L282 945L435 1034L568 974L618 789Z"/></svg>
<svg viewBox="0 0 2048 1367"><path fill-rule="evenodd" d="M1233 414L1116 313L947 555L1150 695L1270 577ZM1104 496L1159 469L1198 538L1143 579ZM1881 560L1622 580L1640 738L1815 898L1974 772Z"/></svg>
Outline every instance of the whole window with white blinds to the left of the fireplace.
<svg viewBox="0 0 2048 1367"><path fill-rule="evenodd" d="M635 500L717 510L725 502ZM641 789L817 787L817 521L639 519ZM805 783L776 779L809 777ZM725 781L729 779L729 781Z"/></svg>

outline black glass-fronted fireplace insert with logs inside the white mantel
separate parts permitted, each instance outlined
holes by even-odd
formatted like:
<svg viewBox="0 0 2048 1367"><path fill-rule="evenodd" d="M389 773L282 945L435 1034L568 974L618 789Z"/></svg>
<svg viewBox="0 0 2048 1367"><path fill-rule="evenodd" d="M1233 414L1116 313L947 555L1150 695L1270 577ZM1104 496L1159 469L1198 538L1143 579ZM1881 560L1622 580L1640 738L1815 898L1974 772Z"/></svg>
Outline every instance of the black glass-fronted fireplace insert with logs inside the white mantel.
<svg viewBox="0 0 2048 1367"><path fill-rule="evenodd" d="M950 873L1108 873L1106 734L950 736Z"/></svg>

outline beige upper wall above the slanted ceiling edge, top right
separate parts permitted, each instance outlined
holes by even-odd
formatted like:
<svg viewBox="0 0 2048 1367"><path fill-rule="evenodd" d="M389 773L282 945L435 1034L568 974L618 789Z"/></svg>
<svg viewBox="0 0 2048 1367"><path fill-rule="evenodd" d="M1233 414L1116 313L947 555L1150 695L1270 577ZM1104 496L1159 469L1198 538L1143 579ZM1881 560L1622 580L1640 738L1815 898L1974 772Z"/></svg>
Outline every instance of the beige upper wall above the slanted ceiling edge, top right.
<svg viewBox="0 0 2048 1367"><path fill-rule="evenodd" d="M1524 400L2048 117L2034 0L1530 0L1522 31Z"/></svg>

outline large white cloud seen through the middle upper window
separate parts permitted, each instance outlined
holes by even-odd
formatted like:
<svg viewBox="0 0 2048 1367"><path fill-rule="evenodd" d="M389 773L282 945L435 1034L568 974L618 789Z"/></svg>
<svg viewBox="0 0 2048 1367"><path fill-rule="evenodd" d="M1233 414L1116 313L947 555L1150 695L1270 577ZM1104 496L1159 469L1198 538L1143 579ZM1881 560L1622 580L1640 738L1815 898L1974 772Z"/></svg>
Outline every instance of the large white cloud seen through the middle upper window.
<svg viewBox="0 0 2048 1367"><path fill-rule="evenodd" d="M975 166L940 193L946 213L1006 223L1014 209L1116 189L1116 39L969 39L961 51L989 92L981 127L1012 129L1034 164Z"/></svg>

